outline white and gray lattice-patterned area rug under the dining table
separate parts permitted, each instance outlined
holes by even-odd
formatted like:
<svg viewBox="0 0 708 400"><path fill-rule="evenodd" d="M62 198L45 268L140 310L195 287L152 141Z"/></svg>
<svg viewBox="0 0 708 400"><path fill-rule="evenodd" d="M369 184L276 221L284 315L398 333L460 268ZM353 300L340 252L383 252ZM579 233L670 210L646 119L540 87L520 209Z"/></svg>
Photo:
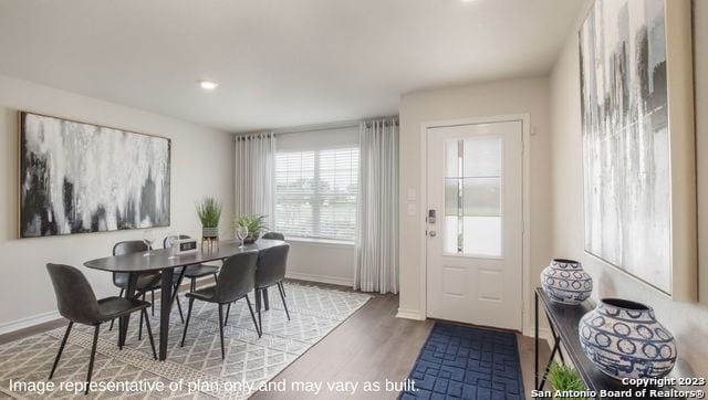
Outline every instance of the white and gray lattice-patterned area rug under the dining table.
<svg viewBox="0 0 708 400"><path fill-rule="evenodd" d="M226 360L221 359L218 309L215 304L195 301L185 347L179 347L184 325L177 307L174 307L165 361L153 359L145 328L143 340L137 340L137 314L132 317L126 347L122 351L116 346L117 329L108 331L108 324L104 324L98 337L92 381L102 386L117 383L123 387L95 391L88 397L246 399L371 298L362 293L306 284L287 283L285 291L292 320L285 317L278 291L271 288L271 309L262 314L263 337L260 339L246 302L242 299L231 305L228 326L223 331ZM254 304L252 294L251 302ZM184 298L181 305L186 317L187 302ZM150 319L156 346L159 337L157 309L158 305ZM66 383L61 388L60 385L85 380L93 340L93 328L76 324L52 379L55 385L52 391L42 392L42 388L20 387L22 385L17 383L12 387L12 382L39 382L40 386L46 382L64 331L65 327L62 327L0 346L0 398L74 397ZM132 382L134 387L126 388L126 382ZM138 383L140 387L137 387ZM159 386L162 390L157 390ZM144 391L148 387L153 391ZM80 394L83 397L83 393Z"/></svg>

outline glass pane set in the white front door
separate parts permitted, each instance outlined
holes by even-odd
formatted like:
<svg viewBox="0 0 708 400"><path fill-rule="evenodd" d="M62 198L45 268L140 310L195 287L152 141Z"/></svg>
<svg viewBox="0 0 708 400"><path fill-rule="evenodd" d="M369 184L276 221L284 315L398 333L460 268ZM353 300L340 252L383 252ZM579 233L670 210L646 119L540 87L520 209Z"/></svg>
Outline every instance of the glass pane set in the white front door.
<svg viewBox="0 0 708 400"><path fill-rule="evenodd" d="M501 138L454 139L445 149L445 252L500 256Z"/></svg>

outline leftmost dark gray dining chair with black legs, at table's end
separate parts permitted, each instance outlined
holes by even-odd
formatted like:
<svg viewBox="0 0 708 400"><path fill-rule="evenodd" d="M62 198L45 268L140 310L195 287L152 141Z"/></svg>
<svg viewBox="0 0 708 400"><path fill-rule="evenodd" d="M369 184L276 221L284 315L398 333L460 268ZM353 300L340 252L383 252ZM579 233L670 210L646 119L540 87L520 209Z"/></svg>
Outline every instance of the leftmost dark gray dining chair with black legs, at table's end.
<svg viewBox="0 0 708 400"><path fill-rule="evenodd" d="M101 324L115 318L118 318L119 320L121 317L129 316L135 312L139 312L140 319L145 319L147 335L150 339L150 347L153 348L153 357L157 359L155 339L153 338L153 330L150 328L150 322L146 310L150 306L149 303L137 298L125 297L106 297L96 299L96 295L91 288L91 284L88 284L84 274L77 269L70 265L46 264L46 270L49 271L52 286L54 286L59 314L69 319L66 333L59 346L59 352L56 352L52 371L49 375L50 380L54 376L54 371L56 370L59 360L62 357L62 351L64 351L64 346L66 345L66 339L69 339L69 334L71 333L73 325L82 324L94 326L93 345L91 346L91 358L88 360L88 372L86 375L85 394L88 394Z"/></svg>

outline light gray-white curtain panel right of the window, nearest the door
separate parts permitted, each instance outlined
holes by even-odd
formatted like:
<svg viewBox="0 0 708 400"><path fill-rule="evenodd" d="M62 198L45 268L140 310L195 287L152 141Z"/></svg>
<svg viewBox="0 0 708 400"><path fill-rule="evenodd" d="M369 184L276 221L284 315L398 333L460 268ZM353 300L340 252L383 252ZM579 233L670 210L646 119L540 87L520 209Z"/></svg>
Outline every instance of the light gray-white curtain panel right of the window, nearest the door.
<svg viewBox="0 0 708 400"><path fill-rule="evenodd" d="M354 288L398 293L398 120L362 123Z"/></svg>

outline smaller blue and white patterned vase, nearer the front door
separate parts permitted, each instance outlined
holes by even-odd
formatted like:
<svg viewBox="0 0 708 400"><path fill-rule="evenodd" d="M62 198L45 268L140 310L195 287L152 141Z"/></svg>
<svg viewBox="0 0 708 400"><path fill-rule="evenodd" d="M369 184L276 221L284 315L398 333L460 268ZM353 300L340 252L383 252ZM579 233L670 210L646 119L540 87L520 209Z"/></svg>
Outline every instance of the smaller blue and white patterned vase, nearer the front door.
<svg viewBox="0 0 708 400"><path fill-rule="evenodd" d="M551 260L541 272L541 285L553 302L563 304L581 304L593 292L593 278L575 260Z"/></svg>

